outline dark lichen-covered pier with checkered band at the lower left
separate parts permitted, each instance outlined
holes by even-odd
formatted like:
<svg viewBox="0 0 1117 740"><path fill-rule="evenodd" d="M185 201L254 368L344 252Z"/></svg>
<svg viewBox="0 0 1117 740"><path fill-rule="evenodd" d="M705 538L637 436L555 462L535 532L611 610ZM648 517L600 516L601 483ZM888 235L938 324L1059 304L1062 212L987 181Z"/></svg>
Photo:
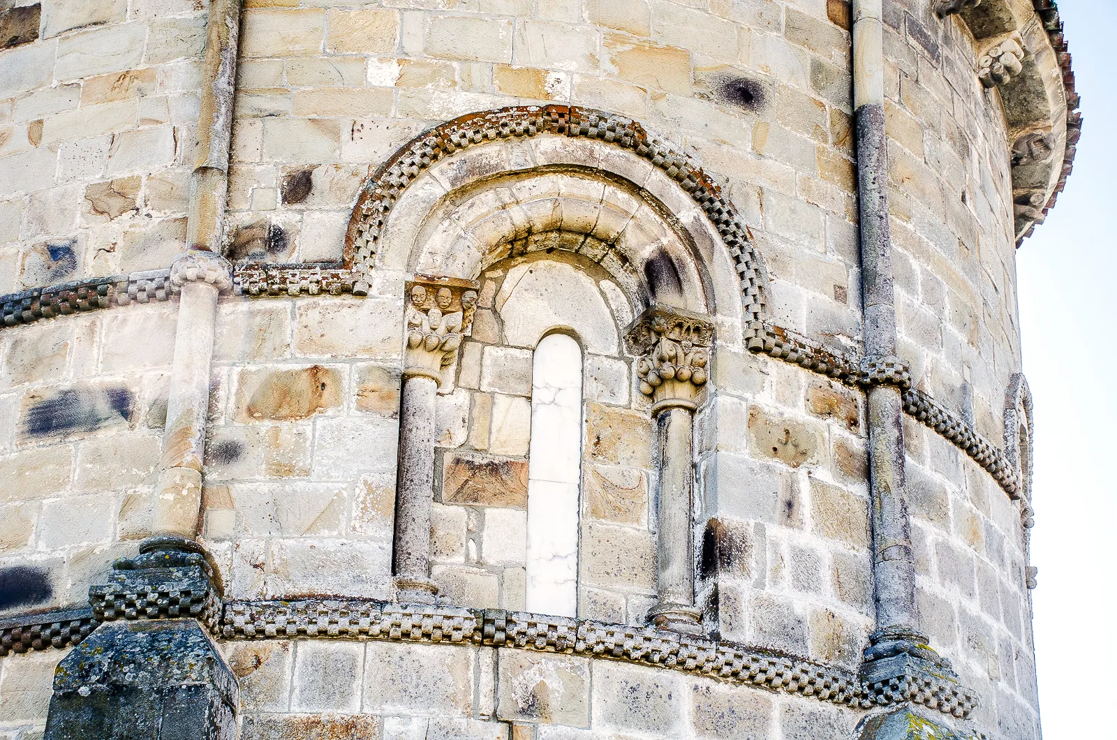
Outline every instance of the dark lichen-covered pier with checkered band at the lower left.
<svg viewBox="0 0 1117 740"><path fill-rule="evenodd" d="M58 664L45 740L232 740L237 681L210 633L221 601L200 552L118 560L90 587L101 626Z"/></svg>

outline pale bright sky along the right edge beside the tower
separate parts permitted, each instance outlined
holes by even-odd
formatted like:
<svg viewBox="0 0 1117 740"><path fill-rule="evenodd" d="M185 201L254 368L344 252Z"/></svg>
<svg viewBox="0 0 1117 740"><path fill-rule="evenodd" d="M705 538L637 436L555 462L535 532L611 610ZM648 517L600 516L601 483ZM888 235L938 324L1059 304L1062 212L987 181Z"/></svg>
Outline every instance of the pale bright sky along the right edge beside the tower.
<svg viewBox="0 0 1117 740"><path fill-rule="evenodd" d="M1046 740L1117 738L1117 0L1060 0L1085 124L1066 191L1016 253L1034 399L1032 591Z"/></svg>

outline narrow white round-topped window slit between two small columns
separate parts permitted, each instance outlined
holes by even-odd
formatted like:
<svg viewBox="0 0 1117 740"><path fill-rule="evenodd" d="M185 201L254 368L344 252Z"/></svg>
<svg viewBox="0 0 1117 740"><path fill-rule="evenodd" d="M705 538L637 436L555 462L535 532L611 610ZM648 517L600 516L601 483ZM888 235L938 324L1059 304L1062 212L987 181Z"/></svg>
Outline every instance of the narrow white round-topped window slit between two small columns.
<svg viewBox="0 0 1117 740"><path fill-rule="evenodd" d="M548 334L535 348L527 469L526 608L574 617L582 487L582 349L565 334Z"/></svg>

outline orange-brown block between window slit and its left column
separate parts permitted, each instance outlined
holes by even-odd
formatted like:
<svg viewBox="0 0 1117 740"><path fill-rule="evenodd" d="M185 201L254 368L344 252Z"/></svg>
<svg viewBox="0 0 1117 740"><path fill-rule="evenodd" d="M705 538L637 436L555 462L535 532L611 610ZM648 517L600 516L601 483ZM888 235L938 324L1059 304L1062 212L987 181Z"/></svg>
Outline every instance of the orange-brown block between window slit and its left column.
<svg viewBox="0 0 1117 740"><path fill-rule="evenodd" d="M442 501L526 509L527 461L448 454L442 458Z"/></svg>

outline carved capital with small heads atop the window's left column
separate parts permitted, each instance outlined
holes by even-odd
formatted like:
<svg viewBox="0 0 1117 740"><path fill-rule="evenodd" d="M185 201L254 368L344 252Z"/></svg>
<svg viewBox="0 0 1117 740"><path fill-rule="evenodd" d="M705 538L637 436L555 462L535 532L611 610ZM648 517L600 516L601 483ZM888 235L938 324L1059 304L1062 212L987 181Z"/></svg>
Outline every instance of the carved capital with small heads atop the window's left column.
<svg viewBox="0 0 1117 740"><path fill-rule="evenodd" d="M476 281L416 275L404 283L403 376L442 383L461 340L469 336L477 309Z"/></svg>

